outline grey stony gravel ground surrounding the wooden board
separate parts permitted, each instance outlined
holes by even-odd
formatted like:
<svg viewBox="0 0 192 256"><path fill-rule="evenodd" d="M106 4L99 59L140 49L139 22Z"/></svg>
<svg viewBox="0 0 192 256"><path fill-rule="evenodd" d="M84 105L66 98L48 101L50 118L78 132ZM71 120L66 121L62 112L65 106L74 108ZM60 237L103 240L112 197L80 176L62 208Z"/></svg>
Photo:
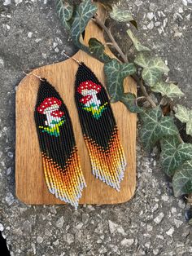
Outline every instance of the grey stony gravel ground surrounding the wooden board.
<svg viewBox="0 0 192 256"><path fill-rule="evenodd" d="M191 107L191 0L124 0L137 18L142 42L168 61ZM125 26L116 38L125 49ZM122 40L124 38L124 40ZM137 143L137 191L123 205L31 206L15 198L15 86L22 70L72 55L54 1L0 2L0 231L11 255L192 255L185 202L172 196L159 169L158 152Z"/></svg>

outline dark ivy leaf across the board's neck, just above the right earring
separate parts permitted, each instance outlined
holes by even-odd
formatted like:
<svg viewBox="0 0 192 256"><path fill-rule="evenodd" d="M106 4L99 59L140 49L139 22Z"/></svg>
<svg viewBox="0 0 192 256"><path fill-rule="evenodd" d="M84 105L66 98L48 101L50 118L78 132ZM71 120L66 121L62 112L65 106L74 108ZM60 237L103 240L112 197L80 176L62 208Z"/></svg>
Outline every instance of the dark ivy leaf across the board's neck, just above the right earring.
<svg viewBox="0 0 192 256"><path fill-rule="evenodd" d="M106 63L111 60L111 58L105 54L105 46L102 42L99 42L96 38L89 39L89 52L94 55L98 60Z"/></svg>

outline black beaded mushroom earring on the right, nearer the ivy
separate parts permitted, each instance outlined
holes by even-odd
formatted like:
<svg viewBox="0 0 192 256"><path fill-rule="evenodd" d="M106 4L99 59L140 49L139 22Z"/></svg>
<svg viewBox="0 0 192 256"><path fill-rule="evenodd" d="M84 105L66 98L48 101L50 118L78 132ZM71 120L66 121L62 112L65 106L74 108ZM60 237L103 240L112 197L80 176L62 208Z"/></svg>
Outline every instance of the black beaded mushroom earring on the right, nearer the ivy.
<svg viewBox="0 0 192 256"><path fill-rule="evenodd" d="M120 191L126 160L107 91L84 63L79 63L75 86L76 106L93 174Z"/></svg>

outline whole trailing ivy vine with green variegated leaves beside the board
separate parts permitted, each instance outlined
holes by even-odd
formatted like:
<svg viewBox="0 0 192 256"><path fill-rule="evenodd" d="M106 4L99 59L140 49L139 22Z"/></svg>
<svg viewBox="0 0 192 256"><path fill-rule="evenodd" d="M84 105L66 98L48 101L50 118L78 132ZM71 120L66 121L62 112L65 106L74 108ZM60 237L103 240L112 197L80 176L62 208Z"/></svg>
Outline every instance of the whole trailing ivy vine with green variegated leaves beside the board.
<svg viewBox="0 0 192 256"><path fill-rule="evenodd" d="M146 151L151 151L155 145L160 148L160 162L162 170L172 179L175 196L192 194L192 144L185 143L177 128L177 121L185 123L186 134L192 136L192 110L176 99L184 96L177 84L166 82L169 68L164 60L153 54L151 49L143 46L134 35L137 22L130 11L111 7L107 4L108 17L117 23L130 23L125 32L134 46L134 58L124 54L116 42L111 29L99 20L97 5L91 0L84 0L80 4L56 0L58 14L63 26L68 29L72 42L82 51L94 56L104 63L103 72L107 80L107 91L111 96L111 103L121 101L132 113L138 113L142 122L140 138ZM94 20L103 29L109 39L108 45L116 50L116 59L111 59L105 52L106 46L97 38L89 39L89 46L85 46L82 33L89 20ZM139 88L138 97L131 93L124 93L124 78L132 76ZM140 102L139 106L137 105ZM166 111L164 111L166 107ZM190 201L190 200L189 200ZM192 219L190 220L192 223Z"/></svg>

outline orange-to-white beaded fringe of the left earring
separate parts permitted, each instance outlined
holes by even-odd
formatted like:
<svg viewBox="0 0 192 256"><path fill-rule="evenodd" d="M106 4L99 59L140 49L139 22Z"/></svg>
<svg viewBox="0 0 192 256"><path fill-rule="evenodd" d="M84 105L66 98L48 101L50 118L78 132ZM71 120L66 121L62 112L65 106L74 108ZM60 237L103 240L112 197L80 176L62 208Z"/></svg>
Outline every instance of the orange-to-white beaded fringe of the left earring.
<svg viewBox="0 0 192 256"><path fill-rule="evenodd" d="M82 189L86 187L86 184L76 147L73 148L64 168L47 157L46 153L41 152L41 156L46 184L50 193L77 208Z"/></svg>

